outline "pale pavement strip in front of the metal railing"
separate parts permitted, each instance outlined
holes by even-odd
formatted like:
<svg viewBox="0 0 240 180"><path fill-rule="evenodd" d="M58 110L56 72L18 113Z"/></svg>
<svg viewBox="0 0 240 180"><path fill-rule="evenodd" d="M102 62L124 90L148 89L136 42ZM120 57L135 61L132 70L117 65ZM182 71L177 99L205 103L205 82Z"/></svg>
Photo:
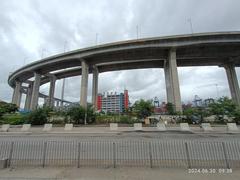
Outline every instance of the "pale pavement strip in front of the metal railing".
<svg viewBox="0 0 240 180"><path fill-rule="evenodd" d="M237 180L240 170L232 173L189 173L174 168L18 168L0 170L0 180Z"/></svg>

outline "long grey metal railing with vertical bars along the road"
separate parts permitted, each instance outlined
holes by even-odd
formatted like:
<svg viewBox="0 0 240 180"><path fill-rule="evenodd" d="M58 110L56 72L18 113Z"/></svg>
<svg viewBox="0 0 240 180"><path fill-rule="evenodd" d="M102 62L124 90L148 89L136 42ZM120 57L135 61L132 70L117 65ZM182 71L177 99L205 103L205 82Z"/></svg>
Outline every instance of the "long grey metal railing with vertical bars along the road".
<svg viewBox="0 0 240 180"><path fill-rule="evenodd" d="M240 141L6 141L8 166L239 168Z"/></svg>

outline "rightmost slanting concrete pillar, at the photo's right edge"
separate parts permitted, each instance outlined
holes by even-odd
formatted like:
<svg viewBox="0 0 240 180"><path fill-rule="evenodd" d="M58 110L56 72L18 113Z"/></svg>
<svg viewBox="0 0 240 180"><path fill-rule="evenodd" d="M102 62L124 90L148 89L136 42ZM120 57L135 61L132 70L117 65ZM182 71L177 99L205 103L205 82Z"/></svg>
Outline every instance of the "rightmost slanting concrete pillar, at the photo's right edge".
<svg viewBox="0 0 240 180"><path fill-rule="evenodd" d="M224 68L226 70L232 100L237 105L240 105L240 91L235 67L233 64L226 64Z"/></svg>

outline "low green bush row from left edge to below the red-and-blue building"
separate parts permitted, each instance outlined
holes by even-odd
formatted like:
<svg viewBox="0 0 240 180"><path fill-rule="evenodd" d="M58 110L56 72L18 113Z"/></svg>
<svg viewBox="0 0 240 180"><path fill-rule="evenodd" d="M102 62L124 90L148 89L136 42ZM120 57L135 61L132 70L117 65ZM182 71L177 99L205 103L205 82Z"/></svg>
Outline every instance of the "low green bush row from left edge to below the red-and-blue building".
<svg viewBox="0 0 240 180"><path fill-rule="evenodd" d="M53 124L84 124L84 119L88 124L107 124L107 123L122 123L133 124L140 122L137 118L128 115L102 115L95 114L91 109L87 114L80 107L74 107L66 112L54 112L49 108L38 108L37 110L28 114L5 114L0 119L0 124L20 125L30 123L32 125L43 125L47 122Z"/></svg>

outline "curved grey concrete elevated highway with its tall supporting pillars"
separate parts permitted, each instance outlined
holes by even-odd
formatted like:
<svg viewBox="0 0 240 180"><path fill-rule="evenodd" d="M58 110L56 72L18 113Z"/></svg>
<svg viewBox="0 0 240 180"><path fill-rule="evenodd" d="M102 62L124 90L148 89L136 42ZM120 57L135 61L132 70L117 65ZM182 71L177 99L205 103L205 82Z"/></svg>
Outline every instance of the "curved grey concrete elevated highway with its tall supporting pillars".
<svg viewBox="0 0 240 180"><path fill-rule="evenodd" d="M219 66L226 69L232 98L240 105L240 93L234 69L240 66L239 49L239 32L193 34L112 43L34 62L10 75L9 84L14 88L13 103L19 105L21 84L27 82L28 92L31 92L27 94L32 96L28 98L31 102L30 109L35 109L40 85L51 82L49 101L54 101L53 78L57 80L81 75L84 82L81 87L81 105L86 106L89 73L93 73L93 82L96 83L98 73L164 68L167 101L175 105L176 111L182 111L177 67ZM31 82L29 79L32 77L35 79ZM93 87L95 88L93 92L97 93L97 84L93 84ZM96 97L96 94L92 96ZM94 98L93 102L95 103ZM52 103L48 102L49 105Z"/></svg>

